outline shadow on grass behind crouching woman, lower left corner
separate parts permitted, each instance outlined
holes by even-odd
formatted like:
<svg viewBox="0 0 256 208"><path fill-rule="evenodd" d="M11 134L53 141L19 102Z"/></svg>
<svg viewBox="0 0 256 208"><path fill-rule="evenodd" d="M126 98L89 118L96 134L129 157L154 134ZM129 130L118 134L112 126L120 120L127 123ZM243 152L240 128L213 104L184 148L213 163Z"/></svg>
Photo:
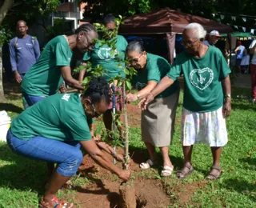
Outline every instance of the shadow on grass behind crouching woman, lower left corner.
<svg viewBox="0 0 256 208"><path fill-rule="evenodd" d="M16 190L32 190L43 194L46 163L24 158L7 146L0 145L0 186Z"/></svg>

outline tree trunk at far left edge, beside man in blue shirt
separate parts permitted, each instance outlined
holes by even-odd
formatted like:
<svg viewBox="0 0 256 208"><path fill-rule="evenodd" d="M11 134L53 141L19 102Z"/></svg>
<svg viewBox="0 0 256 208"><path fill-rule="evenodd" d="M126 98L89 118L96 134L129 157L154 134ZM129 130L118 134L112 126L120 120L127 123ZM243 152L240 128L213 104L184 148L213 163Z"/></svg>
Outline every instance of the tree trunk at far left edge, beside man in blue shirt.
<svg viewBox="0 0 256 208"><path fill-rule="evenodd" d="M13 0L5 0L0 8L0 28L7 12L13 6ZM0 40L1 41L1 40ZM5 94L2 86L2 42L0 42L0 102L6 102Z"/></svg>

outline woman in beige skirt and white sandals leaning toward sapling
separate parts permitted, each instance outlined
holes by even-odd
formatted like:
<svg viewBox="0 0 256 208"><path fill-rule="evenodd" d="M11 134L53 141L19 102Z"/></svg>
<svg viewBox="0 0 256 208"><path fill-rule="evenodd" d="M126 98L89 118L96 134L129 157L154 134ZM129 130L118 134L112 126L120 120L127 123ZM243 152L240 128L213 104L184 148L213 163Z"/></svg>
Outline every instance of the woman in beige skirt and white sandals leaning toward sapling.
<svg viewBox="0 0 256 208"><path fill-rule="evenodd" d="M139 98L145 98L161 78L166 76L170 70L170 64L165 58L146 53L142 40L135 40L128 44L126 57L130 60L131 66L138 70L138 74L134 78L134 86L138 93L126 96L126 102L135 102ZM150 158L146 162L142 162L140 167L148 169L155 165L157 162L155 147L158 146L163 158L162 176L170 176L174 170L174 166L170 162L168 148L174 132L178 94L179 84L176 81L173 86L159 94L154 102L150 103L147 110L142 111L142 140L145 142Z"/></svg>

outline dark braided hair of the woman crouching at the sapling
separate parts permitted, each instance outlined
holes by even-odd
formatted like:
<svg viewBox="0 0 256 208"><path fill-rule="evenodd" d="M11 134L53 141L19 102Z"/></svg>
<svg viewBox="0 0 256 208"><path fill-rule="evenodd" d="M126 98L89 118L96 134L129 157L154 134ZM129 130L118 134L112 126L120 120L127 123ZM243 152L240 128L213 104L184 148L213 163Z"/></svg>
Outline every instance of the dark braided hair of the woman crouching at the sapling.
<svg viewBox="0 0 256 208"><path fill-rule="evenodd" d="M82 95L83 98L90 98L92 103L98 103L105 98L107 104L110 104L110 86L102 77L92 77L87 90Z"/></svg>

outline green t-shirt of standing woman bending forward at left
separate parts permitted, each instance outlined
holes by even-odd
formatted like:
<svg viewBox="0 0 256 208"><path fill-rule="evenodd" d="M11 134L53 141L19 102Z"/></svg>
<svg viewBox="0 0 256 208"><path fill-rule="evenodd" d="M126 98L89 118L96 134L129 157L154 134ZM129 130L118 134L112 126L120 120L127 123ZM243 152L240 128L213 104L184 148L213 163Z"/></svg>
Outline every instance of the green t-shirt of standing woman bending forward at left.
<svg viewBox="0 0 256 208"><path fill-rule="evenodd" d="M60 35L47 43L38 62L26 72L22 90L34 96L56 94L63 83L60 66L70 66L73 51L64 36Z"/></svg>

